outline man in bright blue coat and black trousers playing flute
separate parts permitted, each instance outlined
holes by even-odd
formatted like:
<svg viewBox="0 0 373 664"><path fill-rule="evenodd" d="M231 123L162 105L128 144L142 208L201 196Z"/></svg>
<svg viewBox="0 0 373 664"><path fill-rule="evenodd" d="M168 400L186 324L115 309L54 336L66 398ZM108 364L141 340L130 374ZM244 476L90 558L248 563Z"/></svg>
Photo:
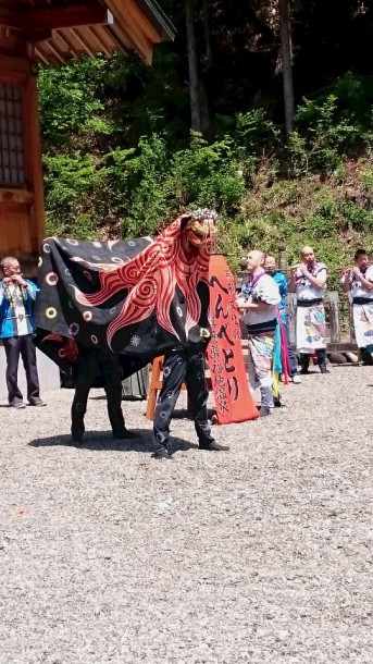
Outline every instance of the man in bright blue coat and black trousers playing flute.
<svg viewBox="0 0 373 664"><path fill-rule="evenodd" d="M17 384L20 355L26 372L27 399L30 406L45 406L39 394L36 348L33 343L35 323L33 303L36 284L24 279L16 258L8 256L0 262L3 280L0 281L0 339L7 355L7 388L9 405L25 408Z"/></svg>

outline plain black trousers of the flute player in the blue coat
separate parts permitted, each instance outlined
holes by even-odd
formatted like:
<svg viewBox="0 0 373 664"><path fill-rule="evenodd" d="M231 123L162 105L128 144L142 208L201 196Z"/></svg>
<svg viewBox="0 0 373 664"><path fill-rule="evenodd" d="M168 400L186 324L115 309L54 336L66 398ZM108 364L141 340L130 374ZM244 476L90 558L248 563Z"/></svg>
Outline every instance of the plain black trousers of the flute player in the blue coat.
<svg viewBox="0 0 373 664"><path fill-rule="evenodd" d="M18 388L17 374L20 355L23 366L25 367L27 382L27 399L30 404L36 404L40 401L39 395L39 379L36 367L36 348L30 334L24 336L11 336L3 339L4 351L7 355L7 388L8 401L14 406L23 402L23 395Z"/></svg>

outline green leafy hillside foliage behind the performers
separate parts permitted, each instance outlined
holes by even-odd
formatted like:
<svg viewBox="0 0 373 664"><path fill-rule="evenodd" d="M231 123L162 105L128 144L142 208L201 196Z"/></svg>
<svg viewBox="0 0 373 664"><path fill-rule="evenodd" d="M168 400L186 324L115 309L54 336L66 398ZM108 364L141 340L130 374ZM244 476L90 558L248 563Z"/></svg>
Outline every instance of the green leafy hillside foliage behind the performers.
<svg viewBox="0 0 373 664"><path fill-rule="evenodd" d="M353 247L370 248L373 78L360 60L371 44L370 10L351 0L336 20L321 0L294 3L295 81L304 98L285 147L277 3L249 4L208 3L209 54L195 2L208 139L189 128L184 0L162 2L177 35L157 48L152 67L115 56L40 70L49 233L154 234L182 210L211 206L219 248L234 268L248 246L276 254L285 245L291 262L309 243L337 274ZM349 48L348 66L347 26L361 45Z"/></svg>

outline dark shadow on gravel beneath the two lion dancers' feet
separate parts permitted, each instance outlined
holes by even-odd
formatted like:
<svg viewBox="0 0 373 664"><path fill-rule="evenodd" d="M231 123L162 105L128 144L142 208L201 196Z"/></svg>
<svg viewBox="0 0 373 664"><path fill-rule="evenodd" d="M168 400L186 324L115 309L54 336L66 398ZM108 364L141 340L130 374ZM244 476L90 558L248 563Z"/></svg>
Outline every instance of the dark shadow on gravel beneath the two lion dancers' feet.
<svg viewBox="0 0 373 664"><path fill-rule="evenodd" d="M112 438L111 431L95 431L87 432L80 445L73 445L71 435L51 435L50 438L36 438L28 445L30 447L76 447L76 450L90 450L91 452L120 451L120 452L145 452L150 454L153 452L152 438L149 436L149 431L140 429L132 429L135 436L128 440L117 440ZM172 454L178 451L195 450L197 444L189 443L181 438L171 439Z"/></svg>

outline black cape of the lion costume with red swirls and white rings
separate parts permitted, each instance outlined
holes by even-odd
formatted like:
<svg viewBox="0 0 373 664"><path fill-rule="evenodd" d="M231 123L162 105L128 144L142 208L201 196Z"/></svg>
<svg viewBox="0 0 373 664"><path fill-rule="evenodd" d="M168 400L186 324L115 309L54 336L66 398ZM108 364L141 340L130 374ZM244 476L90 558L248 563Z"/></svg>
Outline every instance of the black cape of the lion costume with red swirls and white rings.
<svg viewBox="0 0 373 664"><path fill-rule="evenodd" d="M49 237L39 261L35 343L63 370L74 345L121 354L123 378L209 328L209 254L185 247L179 217L154 241ZM201 332L202 330L202 332Z"/></svg>

